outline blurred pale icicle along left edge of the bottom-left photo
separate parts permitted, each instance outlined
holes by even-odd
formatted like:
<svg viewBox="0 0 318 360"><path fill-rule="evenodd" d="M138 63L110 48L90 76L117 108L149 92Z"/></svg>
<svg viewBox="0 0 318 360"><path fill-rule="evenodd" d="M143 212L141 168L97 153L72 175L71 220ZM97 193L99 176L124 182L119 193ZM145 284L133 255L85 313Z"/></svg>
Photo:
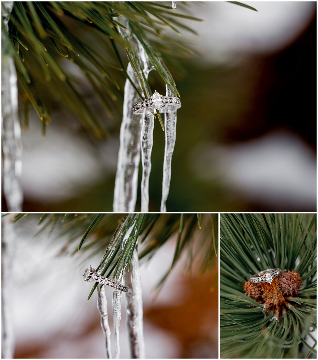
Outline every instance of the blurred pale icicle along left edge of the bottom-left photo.
<svg viewBox="0 0 318 360"><path fill-rule="evenodd" d="M1 219L1 357L13 359L14 333L12 327L11 304L11 260L14 242L13 224L8 222L8 216Z"/></svg>

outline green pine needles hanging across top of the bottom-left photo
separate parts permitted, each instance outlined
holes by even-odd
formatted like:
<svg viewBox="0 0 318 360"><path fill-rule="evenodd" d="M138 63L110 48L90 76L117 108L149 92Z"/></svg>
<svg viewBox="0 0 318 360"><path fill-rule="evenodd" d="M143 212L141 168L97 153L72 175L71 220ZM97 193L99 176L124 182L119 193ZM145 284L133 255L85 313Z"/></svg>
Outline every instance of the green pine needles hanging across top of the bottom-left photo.
<svg viewBox="0 0 318 360"><path fill-rule="evenodd" d="M217 214L202 214L201 229L197 214L17 214L13 222L25 217L39 218L40 229L36 236L53 230L67 235L68 242L63 244L59 255L82 256L83 253L87 262L92 256L100 254L100 264L92 266L101 270L101 275L107 278L115 278L126 265L129 266L138 238L139 259L143 261L150 261L167 241L174 237L178 239L175 252L171 254L170 267L166 269L163 266L162 272L167 270L167 273L158 284L159 288L187 252L191 252L191 256L187 256L190 265L197 264L202 273L211 269L217 260ZM123 247L122 240L132 226L132 236ZM96 287L97 283L88 298Z"/></svg>

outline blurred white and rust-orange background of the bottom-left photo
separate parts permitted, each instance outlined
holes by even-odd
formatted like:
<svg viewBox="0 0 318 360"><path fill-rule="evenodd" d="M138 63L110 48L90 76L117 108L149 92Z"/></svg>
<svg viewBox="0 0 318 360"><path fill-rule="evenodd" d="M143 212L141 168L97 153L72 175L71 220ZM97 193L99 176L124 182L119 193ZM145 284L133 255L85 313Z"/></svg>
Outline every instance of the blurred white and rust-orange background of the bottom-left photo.
<svg viewBox="0 0 318 360"><path fill-rule="evenodd" d="M104 216L109 218L108 221L115 217L120 218L119 215ZM5 221L11 218L12 215L6 216ZM82 249L72 257L62 255L74 234L59 222L55 222L53 228L42 226L45 223L37 226L39 218L38 214L23 217L11 229L14 231L12 271L9 279L6 278L9 280L6 291L15 336L14 357L104 358L105 341L96 307L97 294L94 293L87 302L92 284L82 282L84 270L88 265L96 267L99 264L103 250L93 256ZM34 236L42 228L44 230ZM211 225L209 228L211 231ZM203 218L199 232L202 234L207 230ZM198 236L198 232L195 234ZM71 252L77 250L80 238L79 235L68 248ZM217 261L216 266L202 276L195 262L192 273L186 273L185 259L182 258L161 291L154 291L171 265L175 240L171 238L149 262L141 262L146 357L217 358L218 286L211 291L217 275ZM112 289L106 287L105 291L113 340ZM114 355L114 343L111 348ZM121 358L130 358L125 296L120 349Z"/></svg>

